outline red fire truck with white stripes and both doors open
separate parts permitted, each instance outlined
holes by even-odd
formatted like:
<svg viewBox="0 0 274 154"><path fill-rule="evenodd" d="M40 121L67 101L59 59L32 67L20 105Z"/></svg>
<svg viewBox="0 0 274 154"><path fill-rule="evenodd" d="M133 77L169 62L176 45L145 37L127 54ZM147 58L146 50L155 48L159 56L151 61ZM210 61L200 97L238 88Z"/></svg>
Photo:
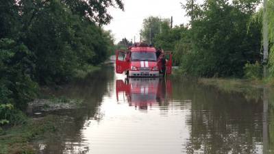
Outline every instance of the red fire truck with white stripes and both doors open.
<svg viewBox="0 0 274 154"><path fill-rule="evenodd" d="M166 60L165 72L163 59ZM116 51L116 73L125 73L129 77L159 77L160 73L171 74L171 69L171 52L156 57L156 49L147 44L135 45L127 52Z"/></svg>

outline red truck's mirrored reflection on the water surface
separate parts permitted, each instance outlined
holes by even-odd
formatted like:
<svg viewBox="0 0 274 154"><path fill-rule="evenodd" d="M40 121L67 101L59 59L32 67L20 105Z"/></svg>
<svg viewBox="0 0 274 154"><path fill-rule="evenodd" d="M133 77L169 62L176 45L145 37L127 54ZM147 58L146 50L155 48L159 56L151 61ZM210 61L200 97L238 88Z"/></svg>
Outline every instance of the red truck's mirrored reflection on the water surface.
<svg viewBox="0 0 274 154"><path fill-rule="evenodd" d="M116 80L116 97L125 92L129 106L147 109L152 105L166 104L166 97L171 96L171 81L159 78L129 78L125 82Z"/></svg>

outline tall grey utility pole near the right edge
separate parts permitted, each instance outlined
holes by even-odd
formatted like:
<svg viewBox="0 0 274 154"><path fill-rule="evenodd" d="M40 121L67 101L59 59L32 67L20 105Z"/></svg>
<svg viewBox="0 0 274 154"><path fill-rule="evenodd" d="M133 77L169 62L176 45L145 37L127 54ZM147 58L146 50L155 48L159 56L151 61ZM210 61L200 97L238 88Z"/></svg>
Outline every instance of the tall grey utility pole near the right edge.
<svg viewBox="0 0 274 154"><path fill-rule="evenodd" d="M263 65L264 65L264 77L267 77L267 61L269 57L269 22L267 20L267 0L264 0L264 16L262 23L262 31L263 31L263 42L264 42L264 57L263 57Z"/></svg>

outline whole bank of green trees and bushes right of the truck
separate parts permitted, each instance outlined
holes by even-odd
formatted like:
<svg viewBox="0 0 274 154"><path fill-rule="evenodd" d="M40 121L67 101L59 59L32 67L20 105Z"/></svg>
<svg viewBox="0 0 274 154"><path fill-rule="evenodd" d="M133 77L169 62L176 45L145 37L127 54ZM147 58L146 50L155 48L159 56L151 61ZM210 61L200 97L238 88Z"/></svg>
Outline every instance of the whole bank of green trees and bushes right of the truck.
<svg viewBox="0 0 274 154"><path fill-rule="evenodd" d="M268 75L262 79L262 1L186 1L190 23L171 27L169 18L150 16L141 29L142 38L165 51L173 51L176 73L211 79L248 79L274 85L274 1L268 1Z"/></svg>

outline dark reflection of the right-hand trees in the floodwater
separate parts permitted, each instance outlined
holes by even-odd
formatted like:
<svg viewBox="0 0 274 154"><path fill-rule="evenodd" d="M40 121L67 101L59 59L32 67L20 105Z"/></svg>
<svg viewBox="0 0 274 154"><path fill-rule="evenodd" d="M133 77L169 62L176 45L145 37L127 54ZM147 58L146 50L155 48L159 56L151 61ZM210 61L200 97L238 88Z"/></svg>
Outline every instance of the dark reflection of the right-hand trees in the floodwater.
<svg viewBox="0 0 274 154"><path fill-rule="evenodd" d="M258 153L256 144L262 142L262 99L247 101L241 93L222 92L189 81L175 82L173 99L192 100L186 122L190 127L186 153Z"/></svg>

